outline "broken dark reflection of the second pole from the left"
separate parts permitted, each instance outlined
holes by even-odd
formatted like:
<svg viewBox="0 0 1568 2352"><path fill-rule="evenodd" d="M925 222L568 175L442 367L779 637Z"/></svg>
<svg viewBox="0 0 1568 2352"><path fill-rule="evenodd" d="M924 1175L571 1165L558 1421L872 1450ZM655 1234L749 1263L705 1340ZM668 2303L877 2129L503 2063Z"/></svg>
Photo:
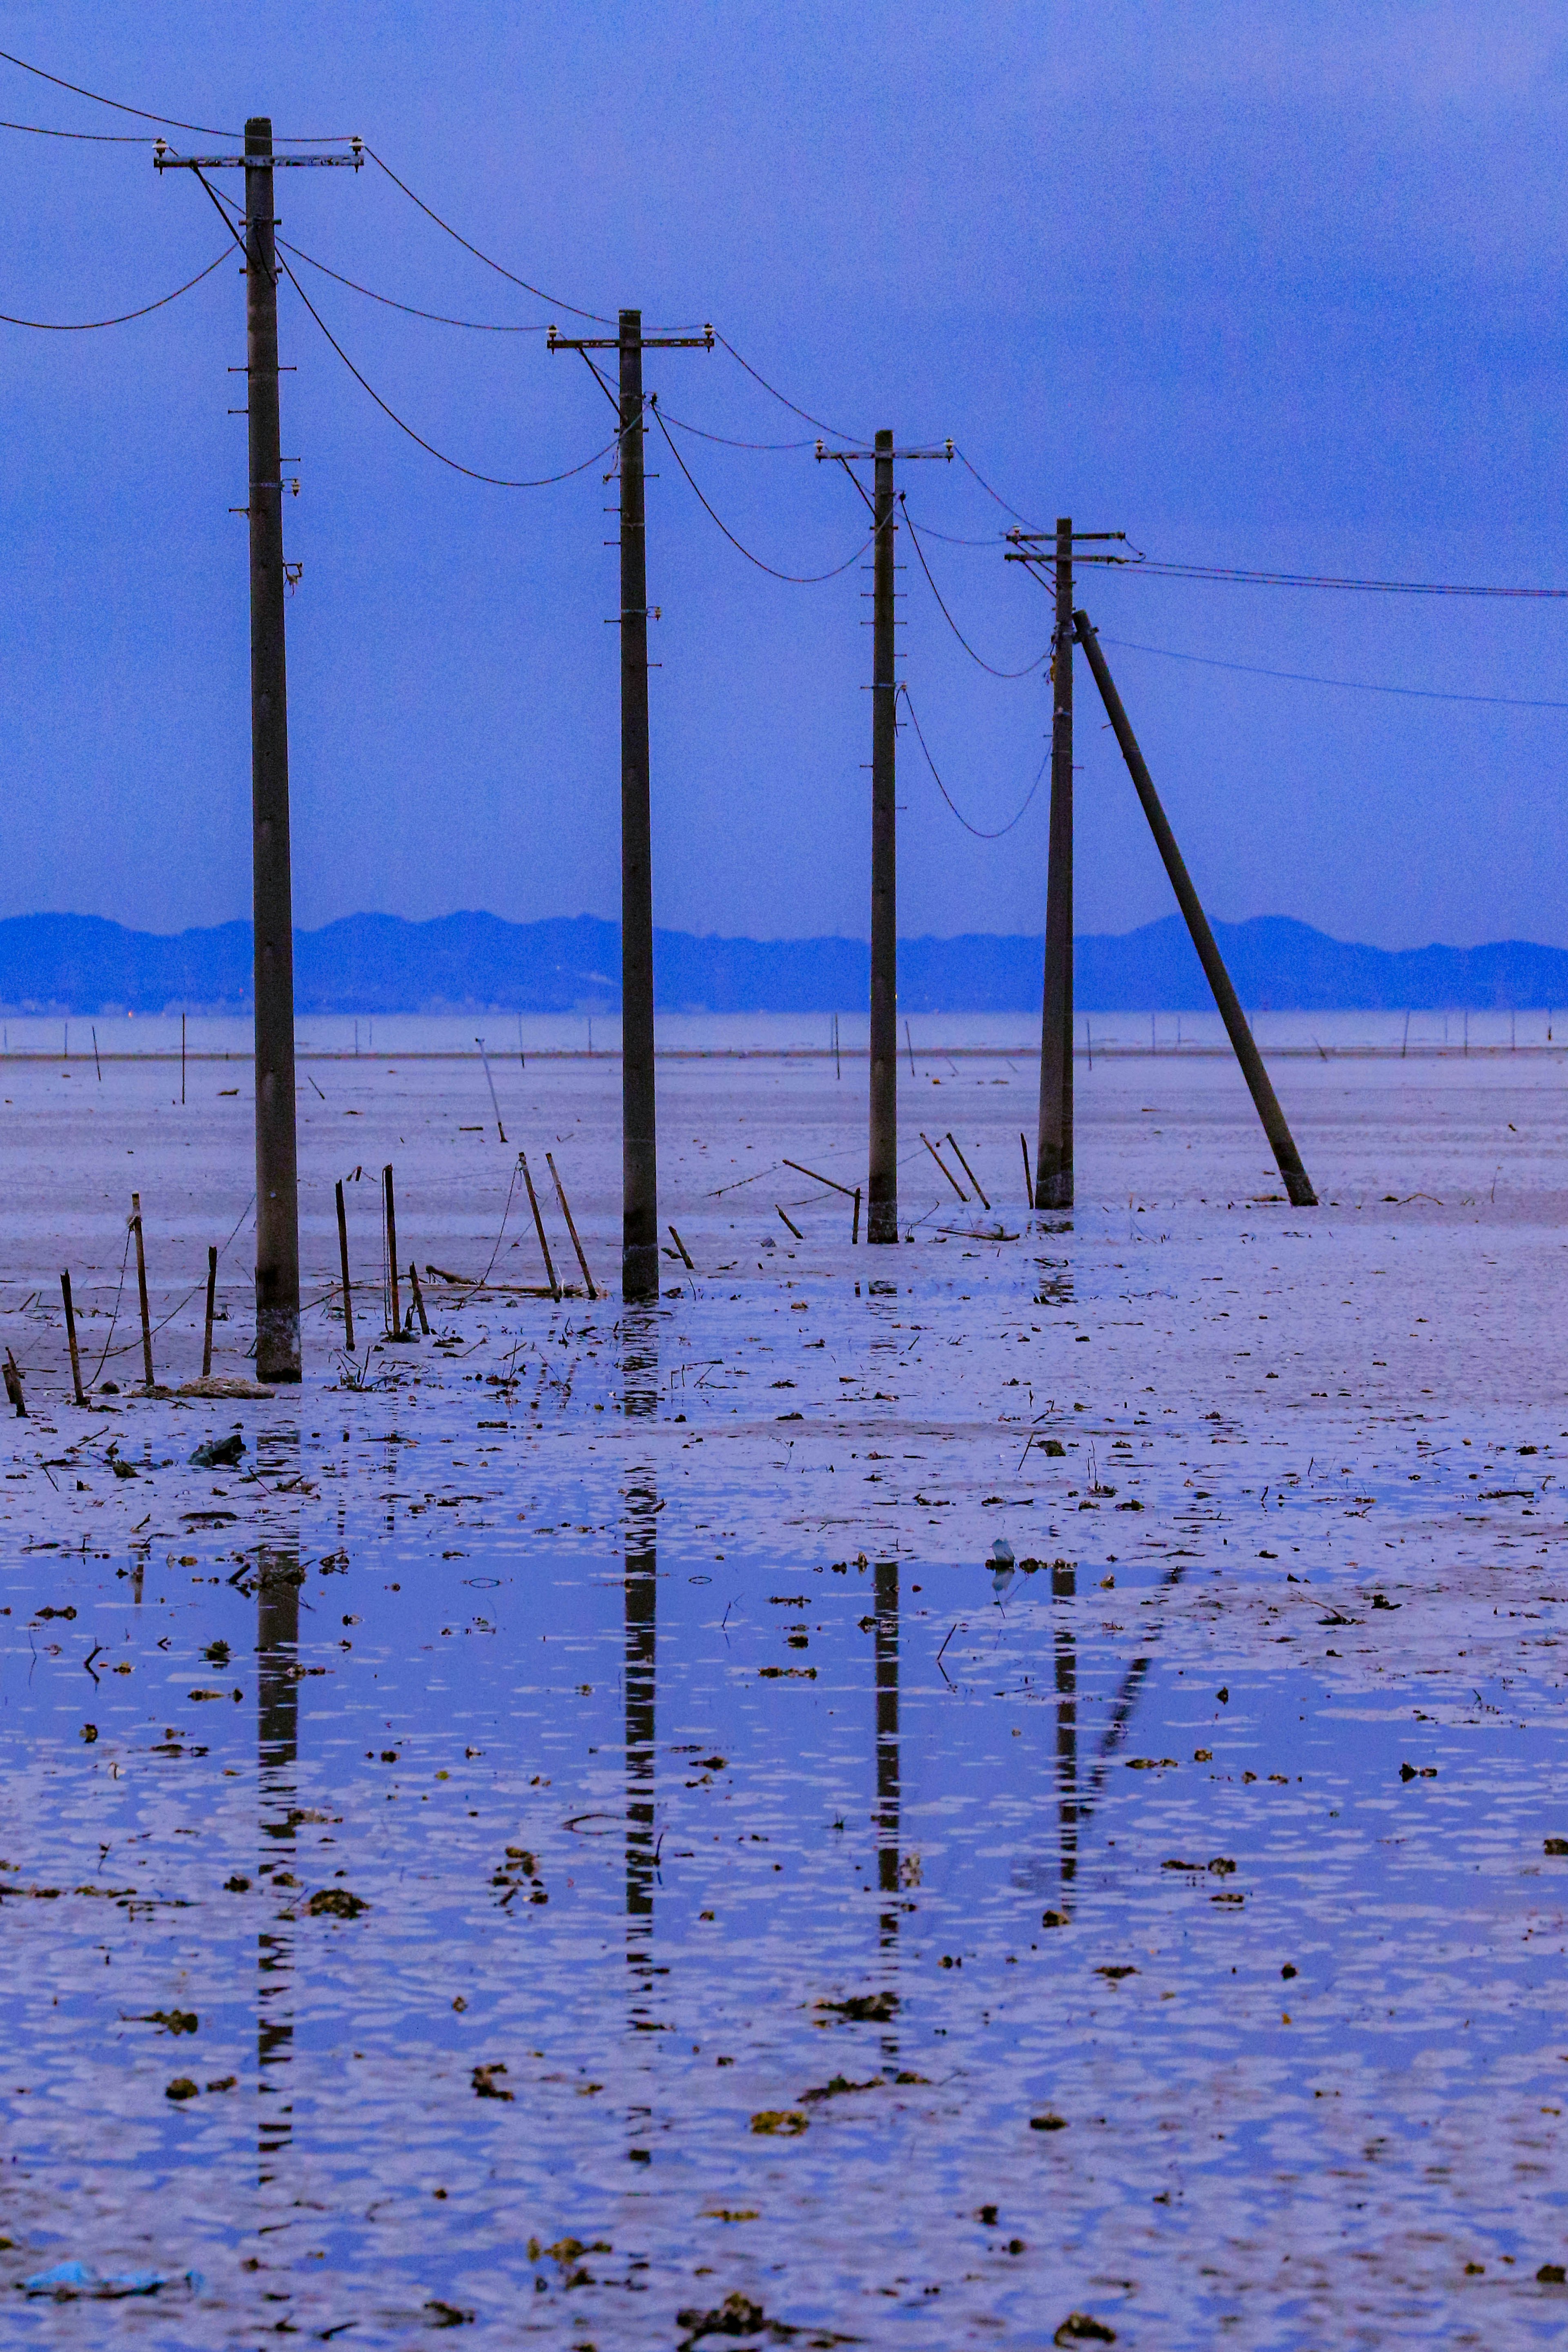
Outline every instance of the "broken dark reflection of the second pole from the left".
<svg viewBox="0 0 1568 2352"><path fill-rule="evenodd" d="M621 1392L628 1418L649 1421L658 1411L656 1310L625 1308ZM630 2025L651 2032L654 1994L654 1886L658 1844L656 1804L656 1665L658 1665L658 1486L651 1465L628 1472L625 1486L625 1957L632 1971ZM649 2044L651 2046L651 2044ZM625 2110L628 2157L646 2164L654 2119L651 2100Z"/></svg>

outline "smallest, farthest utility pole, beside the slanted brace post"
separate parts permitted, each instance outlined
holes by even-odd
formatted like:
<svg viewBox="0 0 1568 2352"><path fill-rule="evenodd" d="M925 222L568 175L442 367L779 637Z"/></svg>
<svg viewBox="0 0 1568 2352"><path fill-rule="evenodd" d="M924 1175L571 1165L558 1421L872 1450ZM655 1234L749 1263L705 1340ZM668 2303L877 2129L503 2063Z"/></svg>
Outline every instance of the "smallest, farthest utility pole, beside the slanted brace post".
<svg viewBox="0 0 1568 2352"><path fill-rule="evenodd" d="M1079 532L1079 539L1126 539L1126 532ZM1072 1209L1072 515L1056 517L1056 534L1009 532L1009 562L1051 564L1056 626L1051 630L1051 837L1046 851L1046 971L1039 1014L1039 1138L1034 1145L1034 1207ZM1051 546L1051 557L1034 548ZM1030 553L1025 553L1030 550ZM1117 557L1084 557L1114 562Z"/></svg>

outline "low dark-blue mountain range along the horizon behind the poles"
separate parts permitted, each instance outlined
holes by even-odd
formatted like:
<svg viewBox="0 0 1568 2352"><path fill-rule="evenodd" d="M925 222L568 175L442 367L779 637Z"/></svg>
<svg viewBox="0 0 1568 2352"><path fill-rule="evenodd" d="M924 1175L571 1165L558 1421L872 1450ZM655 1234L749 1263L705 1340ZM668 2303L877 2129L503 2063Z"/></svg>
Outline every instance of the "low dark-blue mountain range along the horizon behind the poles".
<svg viewBox="0 0 1568 2352"><path fill-rule="evenodd" d="M1488 948L1361 948L1284 915L1215 924L1241 1002L1253 1011L1446 1011L1568 1007L1568 950L1528 941ZM1037 936L905 938L898 1002L910 1014L1037 1011ZM870 953L858 938L698 938L656 934L665 1011L858 1011ZM614 1011L621 927L592 915L503 922L498 915L346 915L294 936L301 1014L505 1009ZM252 1002L252 927L127 931L99 915L0 922L5 1011L240 1011ZM1084 1011L1199 1011L1213 1000L1178 915L1077 941Z"/></svg>

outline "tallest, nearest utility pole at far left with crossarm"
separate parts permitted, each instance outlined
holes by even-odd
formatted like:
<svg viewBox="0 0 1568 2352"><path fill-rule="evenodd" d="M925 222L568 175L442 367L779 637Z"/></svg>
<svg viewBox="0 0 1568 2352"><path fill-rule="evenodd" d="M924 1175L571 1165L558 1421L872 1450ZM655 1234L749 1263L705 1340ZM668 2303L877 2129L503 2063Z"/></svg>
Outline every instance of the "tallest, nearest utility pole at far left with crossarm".
<svg viewBox="0 0 1568 2352"><path fill-rule="evenodd" d="M256 1378L299 1381L299 1145L294 1131L294 889L289 870L289 691L284 668L282 442L277 412L275 165L362 165L350 155L273 155L270 115L244 125L244 155L172 155L153 165L244 172L244 412L249 419L252 574L252 901L256 953ZM212 188L207 188L212 195ZM299 482L294 485L299 489Z"/></svg>

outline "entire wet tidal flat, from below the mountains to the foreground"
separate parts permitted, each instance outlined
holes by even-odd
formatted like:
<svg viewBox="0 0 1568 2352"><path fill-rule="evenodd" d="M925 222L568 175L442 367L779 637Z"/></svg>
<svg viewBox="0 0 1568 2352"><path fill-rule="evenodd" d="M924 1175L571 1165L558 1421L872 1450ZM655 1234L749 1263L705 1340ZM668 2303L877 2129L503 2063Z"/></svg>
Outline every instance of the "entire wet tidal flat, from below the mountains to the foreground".
<svg viewBox="0 0 1568 2352"><path fill-rule="evenodd" d="M1561 2336L1559 1061L1293 1065L1312 1216L1161 1058L1030 1221L1027 1077L922 1068L867 1251L790 1169L849 1080L670 1073L628 1317L541 1294L473 1070L322 1065L306 1385L202 1399L132 1390L120 1192L176 1388L247 1103L7 1073L9 2336ZM599 1275L616 1082L503 1096ZM355 1207L353 1364L343 1136L430 1305Z"/></svg>

